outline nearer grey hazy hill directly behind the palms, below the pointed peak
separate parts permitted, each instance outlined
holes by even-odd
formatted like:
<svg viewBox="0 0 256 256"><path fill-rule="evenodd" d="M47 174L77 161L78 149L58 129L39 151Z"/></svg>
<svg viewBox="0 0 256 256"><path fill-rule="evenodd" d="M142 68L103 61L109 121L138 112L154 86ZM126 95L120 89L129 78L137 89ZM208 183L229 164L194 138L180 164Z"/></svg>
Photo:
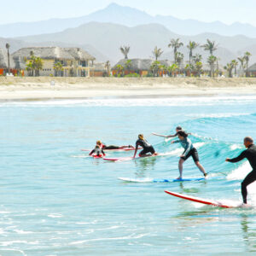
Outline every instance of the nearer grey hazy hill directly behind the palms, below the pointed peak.
<svg viewBox="0 0 256 256"><path fill-rule="evenodd" d="M159 24L148 24L141 26L121 26L111 23L90 22L76 28L69 28L63 32L50 33L19 38L31 44L44 44L45 42L61 42L62 44L91 45L99 50L107 58L119 61L123 55L119 51L121 45L130 45L130 58L148 58L152 55L155 46L164 50L163 57L173 59L172 49L167 45L171 38L181 38L184 46L180 50L188 60L189 54L186 44L193 40L200 44L205 44L207 38L215 40L218 44L219 63L226 64L227 61L236 58L238 52L244 53L252 45L256 44L256 38L245 36L224 37L213 33L203 33L196 36L181 36L169 31L165 26ZM195 53L201 53L207 57L203 49L198 48ZM92 54L92 53L91 53ZM253 55L252 62L256 61ZM113 63L112 63L113 64Z"/></svg>

